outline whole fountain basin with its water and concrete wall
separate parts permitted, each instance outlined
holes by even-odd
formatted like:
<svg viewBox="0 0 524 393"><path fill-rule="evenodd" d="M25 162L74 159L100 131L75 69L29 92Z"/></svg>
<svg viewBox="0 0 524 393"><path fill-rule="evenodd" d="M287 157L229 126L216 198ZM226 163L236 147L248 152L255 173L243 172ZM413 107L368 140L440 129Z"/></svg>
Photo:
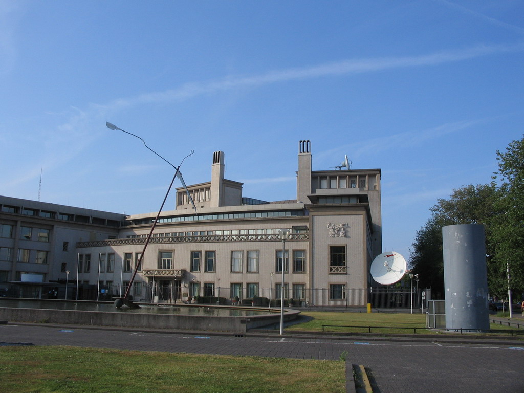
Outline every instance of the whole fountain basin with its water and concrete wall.
<svg viewBox="0 0 524 393"><path fill-rule="evenodd" d="M1 299L0 319L9 322L232 333L245 333L249 329L280 323L279 310L275 309L139 304L139 309L117 309L113 302ZM284 318L286 321L293 320L299 313L288 309Z"/></svg>

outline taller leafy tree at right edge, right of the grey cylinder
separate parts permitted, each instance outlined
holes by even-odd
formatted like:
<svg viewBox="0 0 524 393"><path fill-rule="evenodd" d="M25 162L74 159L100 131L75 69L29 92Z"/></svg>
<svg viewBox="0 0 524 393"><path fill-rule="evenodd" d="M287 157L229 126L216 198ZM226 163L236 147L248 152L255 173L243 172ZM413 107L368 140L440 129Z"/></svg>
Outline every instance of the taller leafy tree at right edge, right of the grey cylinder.
<svg viewBox="0 0 524 393"><path fill-rule="evenodd" d="M505 152L497 150L498 172L494 179L501 182L496 205L503 214L493 220L494 264L491 266L493 285L507 291L524 291L524 138L512 141ZM502 291L502 290L501 290ZM522 296L520 297L522 298Z"/></svg>

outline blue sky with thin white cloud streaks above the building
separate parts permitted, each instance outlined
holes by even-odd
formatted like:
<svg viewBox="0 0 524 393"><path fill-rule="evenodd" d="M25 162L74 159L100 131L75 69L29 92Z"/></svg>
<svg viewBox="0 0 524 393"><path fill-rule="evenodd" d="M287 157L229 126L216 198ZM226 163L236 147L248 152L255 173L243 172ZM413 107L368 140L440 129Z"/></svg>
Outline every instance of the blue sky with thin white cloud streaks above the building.
<svg viewBox="0 0 524 393"><path fill-rule="evenodd" d="M0 0L0 195L138 214L173 176L296 198L347 155L380 168L383 248L492 181L524 133L524 2ZM176 182L176 187L180 183ZM174 209L174 193L167 210Z"/></svg>

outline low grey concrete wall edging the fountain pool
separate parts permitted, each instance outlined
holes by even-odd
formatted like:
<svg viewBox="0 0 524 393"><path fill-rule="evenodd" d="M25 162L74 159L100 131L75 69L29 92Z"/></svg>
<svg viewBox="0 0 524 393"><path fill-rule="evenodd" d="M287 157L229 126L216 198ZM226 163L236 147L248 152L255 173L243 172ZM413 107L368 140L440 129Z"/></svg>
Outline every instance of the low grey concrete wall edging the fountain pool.
<svg viewBox="0 0 524 393"><path fill-rule="evenodd" d="M292 320L299 313L300 311L288 310L285 320ZM0 319L9 322L245 333L249 329L280 321L280 314L206 316L0 307Z"/></svg>

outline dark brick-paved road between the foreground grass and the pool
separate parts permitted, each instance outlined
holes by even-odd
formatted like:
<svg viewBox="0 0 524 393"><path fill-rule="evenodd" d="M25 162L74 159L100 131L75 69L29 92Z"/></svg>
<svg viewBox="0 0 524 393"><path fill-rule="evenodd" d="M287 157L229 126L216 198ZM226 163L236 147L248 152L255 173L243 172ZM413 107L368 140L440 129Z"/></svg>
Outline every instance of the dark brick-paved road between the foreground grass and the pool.
<svg viewBox="0 0 524 393"><path fill-rule="evenodd" d="M380 393L524 392L524 342L233 337L12 324L0 325L0 342L334 361L345 356L370 370Z"/></svg>

